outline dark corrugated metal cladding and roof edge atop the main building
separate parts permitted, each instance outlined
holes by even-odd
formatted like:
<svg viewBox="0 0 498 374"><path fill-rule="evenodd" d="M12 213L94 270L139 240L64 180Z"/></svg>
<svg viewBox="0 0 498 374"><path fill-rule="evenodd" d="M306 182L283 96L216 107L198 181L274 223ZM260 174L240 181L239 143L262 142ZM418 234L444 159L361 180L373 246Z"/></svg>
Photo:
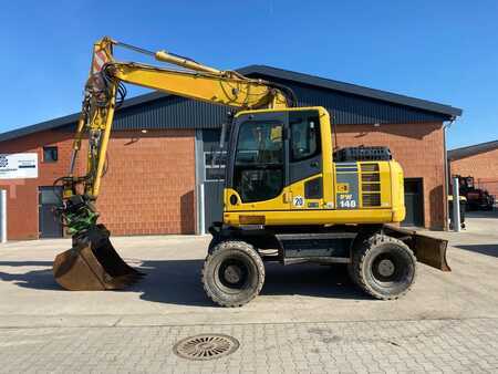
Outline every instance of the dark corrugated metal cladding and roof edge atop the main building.
<svg viewBox="0 0 498 374"><path fill-rule="evenodd" d="M335 124L443 122L461 115L461 110L415 97L362 87L264 65L239 70L291 87L301 106L324 106ZM219 128L227 106L214 105L167 93L152 92L126 100L116 111L114 129ZM0 142L46 129L74 127L79 114L46 121L0 134Z"/></svg>

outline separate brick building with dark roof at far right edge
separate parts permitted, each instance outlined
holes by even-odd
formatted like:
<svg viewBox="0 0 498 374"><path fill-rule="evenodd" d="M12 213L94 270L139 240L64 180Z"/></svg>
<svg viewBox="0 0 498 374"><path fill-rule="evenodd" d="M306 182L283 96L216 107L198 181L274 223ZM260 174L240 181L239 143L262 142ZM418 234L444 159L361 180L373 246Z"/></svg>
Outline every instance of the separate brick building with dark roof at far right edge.
<svg viewBox="0 0 498 374"><path fill-rule="evenodd" d="M448 150L452 175L474 177L476 187L498 197L498 141Z"/></svg>

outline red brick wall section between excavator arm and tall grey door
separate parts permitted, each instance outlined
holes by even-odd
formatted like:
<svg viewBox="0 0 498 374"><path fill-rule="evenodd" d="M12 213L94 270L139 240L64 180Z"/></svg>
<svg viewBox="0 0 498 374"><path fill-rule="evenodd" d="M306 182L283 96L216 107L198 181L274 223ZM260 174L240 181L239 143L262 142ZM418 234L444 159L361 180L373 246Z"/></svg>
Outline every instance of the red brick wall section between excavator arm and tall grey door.
<svg viewBox="0 0 498 374"><path fill-rule="evenodd" d="M116 235L194 233L194 131L114 134L97 200L102 222Z"/></svg>

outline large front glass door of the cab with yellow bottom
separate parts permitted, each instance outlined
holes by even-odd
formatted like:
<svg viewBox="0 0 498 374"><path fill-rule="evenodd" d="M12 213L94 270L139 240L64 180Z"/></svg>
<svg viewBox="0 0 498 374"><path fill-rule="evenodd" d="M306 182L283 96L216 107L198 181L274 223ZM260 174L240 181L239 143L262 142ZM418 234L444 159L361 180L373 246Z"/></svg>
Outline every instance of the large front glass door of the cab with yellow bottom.
<svg viewBox="0 0 498 374"><path fill-rule="evenodd" d="M289 112L252 112L230 134L226 211L289 210Z"/></svg>

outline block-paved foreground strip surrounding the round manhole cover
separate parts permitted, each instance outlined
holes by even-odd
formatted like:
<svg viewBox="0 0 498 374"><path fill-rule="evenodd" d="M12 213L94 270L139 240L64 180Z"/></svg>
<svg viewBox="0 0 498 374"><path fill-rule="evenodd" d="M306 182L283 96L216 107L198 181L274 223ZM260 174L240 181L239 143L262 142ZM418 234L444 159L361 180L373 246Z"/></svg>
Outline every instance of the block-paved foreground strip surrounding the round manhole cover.
<svg viewBox="0 0 498 374"><path fill-rule="evenodd" d="M240 349L212 361L172 353L216 332ZM0 330L0 372L498 372L498 320Z"/></svg>

